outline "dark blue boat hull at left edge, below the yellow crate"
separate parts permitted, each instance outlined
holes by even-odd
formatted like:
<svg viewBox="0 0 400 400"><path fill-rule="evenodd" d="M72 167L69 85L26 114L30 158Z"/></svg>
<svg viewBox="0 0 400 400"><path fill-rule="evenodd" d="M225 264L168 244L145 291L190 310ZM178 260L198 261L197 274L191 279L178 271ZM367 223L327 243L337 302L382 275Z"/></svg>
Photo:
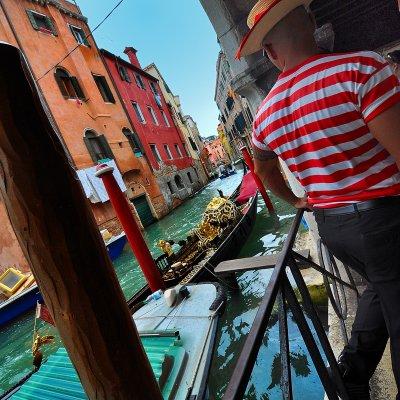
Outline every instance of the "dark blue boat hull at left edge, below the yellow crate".
<svg viewBox="0 0 400 400"><path fill-rule="evenodd" d="M37 301L43 301L37 285L25 290L24 292L12 296L10 299L0 304L0 327L19 317L27 311L36 307Z"/></svg>

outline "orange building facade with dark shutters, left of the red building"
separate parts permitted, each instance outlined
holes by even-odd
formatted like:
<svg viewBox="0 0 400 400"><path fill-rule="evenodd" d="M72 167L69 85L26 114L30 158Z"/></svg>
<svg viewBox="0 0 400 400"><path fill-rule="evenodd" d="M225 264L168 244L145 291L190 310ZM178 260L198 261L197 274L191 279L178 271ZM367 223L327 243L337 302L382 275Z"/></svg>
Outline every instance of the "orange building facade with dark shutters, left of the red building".
<svg viewBox="0 0 400 400"><path fill-rule="evenodd" d="M165 215L164 197L136 151L132 127L79 8L65 0L2 0L0 41L25 54L73 166L82 170L114 159L132 203L142 198L155 219ZM91 206L99 227L118 231L109 201ZM0 269L11 262L9 254L24 269L15 240L2 240L13 236L9 228L0 227Z"/></svg>

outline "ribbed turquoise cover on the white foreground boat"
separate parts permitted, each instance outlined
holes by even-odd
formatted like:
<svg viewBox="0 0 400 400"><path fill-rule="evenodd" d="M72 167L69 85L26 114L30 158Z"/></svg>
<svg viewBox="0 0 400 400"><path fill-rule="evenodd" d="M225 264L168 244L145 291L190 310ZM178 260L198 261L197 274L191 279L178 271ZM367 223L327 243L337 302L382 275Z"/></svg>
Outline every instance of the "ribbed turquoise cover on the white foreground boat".
<svg viewBox="0 0 400 400"><path fill-rule="evenodd" d="M162 394L168 399L179 376L180 367L185 357L185 350L179 337L142 336L147 357L157 382L165 368L164 361L169 356L174 359L168 379L163 385ZM11 396L12 400L75 400L88 399L78 374L72 365L65 348L60 348L34 373L21 388Z"/></svg>

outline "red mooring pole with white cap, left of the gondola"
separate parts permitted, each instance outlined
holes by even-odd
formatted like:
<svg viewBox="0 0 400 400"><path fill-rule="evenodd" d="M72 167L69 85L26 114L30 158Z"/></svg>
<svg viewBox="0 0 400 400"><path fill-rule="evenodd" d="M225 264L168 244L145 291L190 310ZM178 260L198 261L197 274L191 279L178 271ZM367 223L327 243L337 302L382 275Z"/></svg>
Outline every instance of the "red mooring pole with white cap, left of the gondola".
<svg viewBox="0 0 400 400"><path fill-rule="evenodd" d="M121 222L122 228L128 238L128 242L151 291L155 292L159 289L164 289L165 284L162 280L161 273L157 269L156 263L147 247L147 243L143 239L142 232L140 232L135 218L132 215L128 201L114 178L113 171L113 167L101 164L97 166L96 176L101 178L103 181L111 204Z"/></svg>

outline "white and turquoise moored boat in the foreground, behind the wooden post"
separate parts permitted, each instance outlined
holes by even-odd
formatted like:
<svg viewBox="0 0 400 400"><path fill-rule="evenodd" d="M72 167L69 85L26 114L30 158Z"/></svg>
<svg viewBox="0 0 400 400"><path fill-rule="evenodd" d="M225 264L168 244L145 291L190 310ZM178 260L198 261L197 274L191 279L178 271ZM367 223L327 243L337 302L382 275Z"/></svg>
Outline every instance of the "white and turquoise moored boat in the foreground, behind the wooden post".
<svg viewBox="0 0 400 400"><path fill-rule="evenodd" d="M133 315L163 398L168 400L206 398L218 317L225 305L224 293L218 285L191 285L187 290L172 307L160 298ZM64 398L87 399L64 348L1 397L3 400Z"/></svg>

